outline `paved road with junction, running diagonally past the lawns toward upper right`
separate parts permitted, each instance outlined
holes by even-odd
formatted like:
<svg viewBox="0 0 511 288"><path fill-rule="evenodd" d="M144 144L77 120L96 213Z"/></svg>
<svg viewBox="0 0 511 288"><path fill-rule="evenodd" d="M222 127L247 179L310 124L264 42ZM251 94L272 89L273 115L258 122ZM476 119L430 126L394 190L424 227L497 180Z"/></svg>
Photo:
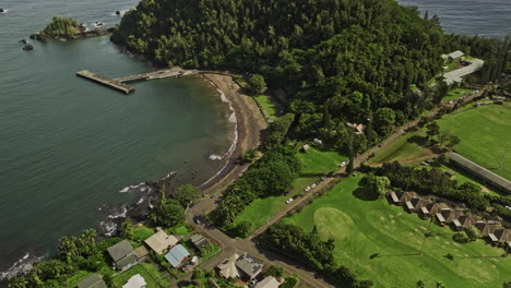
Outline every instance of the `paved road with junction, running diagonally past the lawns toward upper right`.
<svg viewBox="0 0 511 288"><path fill-rule="evenodd" d="M479 96L483 94L485 89L482 89L477 94L471 95L470 97L465 98L465 101L472 100L474 97ZM450 106L454 106L455 104L451 104ZM438 112L438 108L431 110L427 117L433 117ZM359 155L357 158L355 158L355 164L354 167L359 167L361 163L366 161L369 158L369 155L379 152L380 149L384 149L385 147L390 146L395 140L399 137L403 136L406 132L406 130L411 127L414 127L417 124L417 122L420 119L415 119L405 125L397 128L394 130L394 133L390 135L385 141L381 143L381 145L372 147L371 149L367 151L363 155ZM314 288L331 288L333 287L332 285L325 283L321 276L316 275L312 271L310 271L308 267L301 265L300 263L297 263L296 261L293 261L288 257L285 257L283 255L277 255L275 253L272 253L270 251L263 251L260 247L255 245L254 239L257 236L262 233L270 225L278 221L283 217L287 215L289 211L298 206L300 203L304 201L307 201L314 192L319 191L320 189L333 184L333 181L340 181L343 177L345 176L345 168L340 168L334 175L331 177L326 178L324 181L320 182L314 189L311 189L309 192L305 193L304 196L295 200L290 204L286 205L284 209L278 212L276 215L274 215L271 219L268 220L266 224L264 224L262 227L257 229L252 236L250 236L247 239L233 239L226 236L224 232L222 232L219 229L207 225L207 224L201 224L197 225L193 223L193 218L195 216L202 216L206 212L211 212L216 207L216 201L219 200L219 195L216 195L215 197L212 199L205 199L197 203L193 207L189 208L187 211L187 221L193 226L193 228L207 236L210 239L214 240L217 242L221 247L222 250L217 256L214 259L210 260L206 263L202 263L200 266L201 268L204 269L210 269L216 267L219 263L222 263L225 259L229 257L234 253L241 254L243 252L248 252L249 254L253 255L254 257L258 257L269 264L272 265L278 265L284 267L285 269L296 273L298 277L308 286L314 287ZM227 184L226 184L227 185ZM221 189L218 189L221 190ZM185 279L189 279L190 274L187 274Z"/></svg>

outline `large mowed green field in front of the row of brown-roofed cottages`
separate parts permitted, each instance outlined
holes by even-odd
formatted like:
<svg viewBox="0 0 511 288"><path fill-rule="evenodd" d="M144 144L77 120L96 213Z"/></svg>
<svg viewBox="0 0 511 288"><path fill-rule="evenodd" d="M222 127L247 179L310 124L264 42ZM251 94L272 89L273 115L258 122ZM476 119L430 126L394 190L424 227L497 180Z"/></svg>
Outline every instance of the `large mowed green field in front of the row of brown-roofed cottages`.
<svg viewBox="0 0 511 288"><path fill-rule="evenodd" d="M511 257L483 240L460 244L448 227L431 224L424 254L418 255L428 220L407 214L387 200L364 200L363 177L342 180L332 191L300 213L283 219L335 241L338 262L375 287L502 287L511 280ZM379 253L371 259L371 255ZM448 253L454 260L445 257Z"/></svg>

